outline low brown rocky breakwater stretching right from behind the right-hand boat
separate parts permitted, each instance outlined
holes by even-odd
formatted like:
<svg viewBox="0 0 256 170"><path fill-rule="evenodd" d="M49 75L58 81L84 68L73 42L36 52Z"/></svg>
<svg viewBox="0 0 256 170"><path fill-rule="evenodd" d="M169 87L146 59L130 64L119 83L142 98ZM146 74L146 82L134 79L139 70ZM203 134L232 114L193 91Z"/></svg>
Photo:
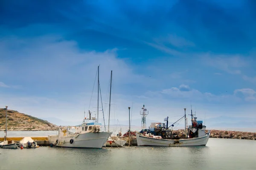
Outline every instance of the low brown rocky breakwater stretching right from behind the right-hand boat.
<svg viewBox="0 0 256 170"><path fill-rule="evenodd" d="M242 131L229 131L229 130L211 130L210 138L256 140L256 133L242 132Z"/></svg>

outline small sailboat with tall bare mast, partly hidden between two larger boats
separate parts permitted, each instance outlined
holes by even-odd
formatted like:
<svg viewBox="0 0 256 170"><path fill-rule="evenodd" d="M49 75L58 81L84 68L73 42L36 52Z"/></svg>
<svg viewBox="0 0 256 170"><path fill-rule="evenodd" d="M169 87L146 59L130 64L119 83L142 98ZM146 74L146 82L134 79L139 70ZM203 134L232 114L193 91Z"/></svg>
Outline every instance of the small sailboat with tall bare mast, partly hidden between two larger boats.
<svg viewBox="0 0 256 170"><path fill-rule="evenodd" d="M110 123L111 87L112 87L112 70L111 70L110 95L109 95L108 132L109 132L109 123ZM113 137L110 136L105 145L106 147L122 147L125 145L125 143L126 141L120 139L118 136L113 136Z"/></svg>

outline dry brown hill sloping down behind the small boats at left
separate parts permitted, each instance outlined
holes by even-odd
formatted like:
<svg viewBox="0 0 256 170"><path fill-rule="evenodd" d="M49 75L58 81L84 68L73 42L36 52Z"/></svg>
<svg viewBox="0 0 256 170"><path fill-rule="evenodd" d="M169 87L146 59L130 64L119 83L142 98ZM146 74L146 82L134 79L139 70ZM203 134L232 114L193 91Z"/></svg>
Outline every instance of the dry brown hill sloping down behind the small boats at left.
<svg viewBox="0 0 256 170"><path fill-rule="evenodd" d="M58 130L57 125L53 125L46 120L19 113L18 111L7 110L7 130ZM0 108L0 130L6 129L6 109Z"/></svg>

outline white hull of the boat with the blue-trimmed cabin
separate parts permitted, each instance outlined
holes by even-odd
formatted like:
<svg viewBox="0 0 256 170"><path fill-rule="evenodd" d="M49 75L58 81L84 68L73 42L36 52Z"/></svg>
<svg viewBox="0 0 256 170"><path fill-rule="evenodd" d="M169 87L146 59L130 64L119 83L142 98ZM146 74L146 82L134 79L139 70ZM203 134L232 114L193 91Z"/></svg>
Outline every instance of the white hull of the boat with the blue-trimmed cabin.
<svg viewBox="0 0 256 170"><path fill-rule="evenodd" d="M107 142L108 137L112 133L99 132L99 133L80 133L73 136L56 136L49 135L49 142L56 147L71 147L71 148L102 148ZM58 139L58 143L56 140ZM70 142L73 139L73 142Z"/></svg>

